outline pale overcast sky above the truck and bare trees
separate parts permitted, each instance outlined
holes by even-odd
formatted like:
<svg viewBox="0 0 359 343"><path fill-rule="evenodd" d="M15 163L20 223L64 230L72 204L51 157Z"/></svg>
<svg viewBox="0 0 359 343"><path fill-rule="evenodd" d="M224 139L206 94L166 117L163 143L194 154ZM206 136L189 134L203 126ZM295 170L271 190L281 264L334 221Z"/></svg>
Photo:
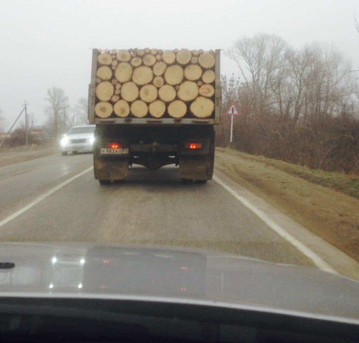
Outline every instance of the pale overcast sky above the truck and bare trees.
<svg viewBox="0 0 359 343"><path fill-rule="evenodd" d="M334 43L359 69L354 13L359 0L0 0L0 109L9 128L27 100L41 125L53 86L74 107L87 97L91 48L226 50L267 32L296 49ZM222 54L221 72L232 71Z"/></svg>

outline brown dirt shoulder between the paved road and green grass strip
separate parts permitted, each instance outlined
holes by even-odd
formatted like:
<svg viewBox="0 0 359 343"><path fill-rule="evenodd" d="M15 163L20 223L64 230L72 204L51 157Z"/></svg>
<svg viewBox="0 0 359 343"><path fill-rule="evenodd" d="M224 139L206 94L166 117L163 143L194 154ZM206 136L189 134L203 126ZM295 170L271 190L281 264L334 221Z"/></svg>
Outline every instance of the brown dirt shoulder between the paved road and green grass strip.
<svg viewBox="0 0 359 343"><path fill-rule="evenodd" d="M216 149L216 169L359 261L359 199L229 149Z"/></svg>

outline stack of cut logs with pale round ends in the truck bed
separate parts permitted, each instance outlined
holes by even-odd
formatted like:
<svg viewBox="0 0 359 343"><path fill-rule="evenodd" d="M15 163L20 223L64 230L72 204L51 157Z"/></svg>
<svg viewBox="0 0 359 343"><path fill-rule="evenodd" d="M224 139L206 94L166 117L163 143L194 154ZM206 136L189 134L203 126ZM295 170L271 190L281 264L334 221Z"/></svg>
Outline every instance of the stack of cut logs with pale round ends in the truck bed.
<svg viewBox="0 0 359 343"><path fill-rule="evenodd" d="M97 58L95 114L197 118L214 111L214 52L129 49L100 51Z"/></svg>

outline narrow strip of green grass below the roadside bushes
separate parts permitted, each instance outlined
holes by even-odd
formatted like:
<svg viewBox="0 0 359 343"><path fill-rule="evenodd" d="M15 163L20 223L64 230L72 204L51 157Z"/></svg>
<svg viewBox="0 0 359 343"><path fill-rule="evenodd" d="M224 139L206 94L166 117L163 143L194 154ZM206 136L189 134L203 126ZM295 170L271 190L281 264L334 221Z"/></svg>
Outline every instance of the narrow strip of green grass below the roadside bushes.
<svg viewBox="0 0 359 343"><path fill-rule="evenodd" d="M264 156L249 155L227 148L217 149L221 152L225 152L226 154L239 156L240 158L245 158L256 162L261 162L265 165L270 165L278 170L284 171L291 175L298 176L313 184L329 187L351 195L353 197L359 198L359 177L335 172L327 172L318 169L309 169L307 167L303 167L297 164L291 164L277 159L267 158Z"/></svg>

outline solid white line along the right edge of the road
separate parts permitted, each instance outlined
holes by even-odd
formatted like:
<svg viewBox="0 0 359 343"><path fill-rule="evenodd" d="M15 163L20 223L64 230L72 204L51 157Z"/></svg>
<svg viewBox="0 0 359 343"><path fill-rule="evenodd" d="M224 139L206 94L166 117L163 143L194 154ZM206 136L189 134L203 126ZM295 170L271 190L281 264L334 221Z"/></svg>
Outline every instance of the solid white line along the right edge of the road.
<svg viewBox="0 0 359 343"><path fill-rule="evenodd" d="M282 236L286 241L296 247L301 253L303 253L306 257L313 261L313 263L321 270L326 272L338 274L327 262L325 262L321 257L319 257L314 251L306 247L303 243L299 242L299 240L293 237L290 233L288 233L283 227L278 225L274 220L269 218L263 211L259 210L255 207L250 201L246 198L240 196L235 190L231 187L227 186L222 180L218 177L213 176L213 180L228 190L237 200L239 200L246 208L255 213L259 218L261 218L273 231L275 231L278 235Z"/></svg>

